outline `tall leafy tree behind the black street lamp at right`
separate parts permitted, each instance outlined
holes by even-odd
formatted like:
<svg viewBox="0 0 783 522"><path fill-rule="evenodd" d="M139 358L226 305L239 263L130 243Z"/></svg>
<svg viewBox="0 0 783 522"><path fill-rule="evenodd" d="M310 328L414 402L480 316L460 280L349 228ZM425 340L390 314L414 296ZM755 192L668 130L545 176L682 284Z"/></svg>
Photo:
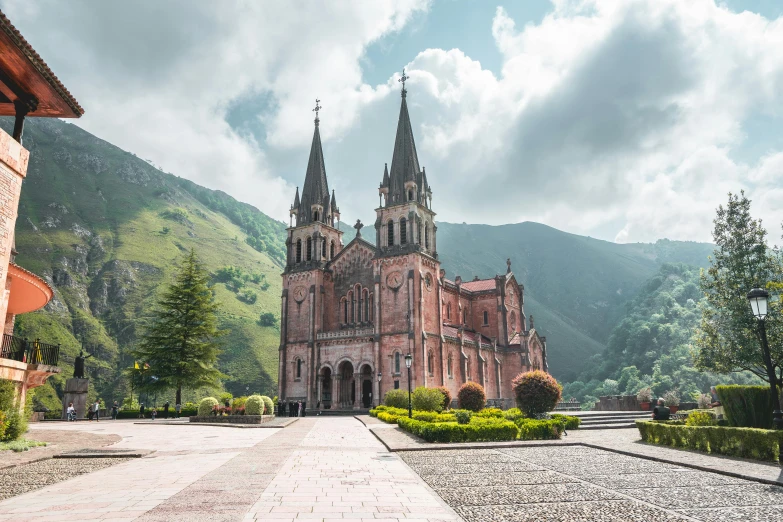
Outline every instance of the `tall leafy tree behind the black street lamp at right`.
<svg viewBox="0 0 783 522"><path fill-rule="evenodd" d="M747 370L766 382L783 384L783 316L781 303L769 301L766 319L773 371L762 360L758 323L747 300L752 288L774 288L781 283L778 252L766 242L760 220L750 215L750 200L742 193L729 194L729 203L718 208L713 238L717 248L711 266L701 275L705 294L701 323L695 337L700 348L697 367L719 373Z"/></svg>

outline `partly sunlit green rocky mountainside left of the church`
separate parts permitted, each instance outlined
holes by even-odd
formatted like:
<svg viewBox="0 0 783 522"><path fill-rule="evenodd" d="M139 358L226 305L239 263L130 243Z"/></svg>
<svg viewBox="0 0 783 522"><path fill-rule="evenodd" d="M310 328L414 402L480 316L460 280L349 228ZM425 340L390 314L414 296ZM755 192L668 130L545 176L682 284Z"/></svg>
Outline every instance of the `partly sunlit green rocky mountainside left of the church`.
<svg viewBox="0 0 783 522"><path fill-rule="evenodd" d="M75 125L31 119L25 147L31 154L16 261L46 278L55 299L19 316L15 333L60 343L64 370L37 396L51 399L52 388L61 390L82 339L94 354L88 359L94 393L105 400L126 395L120 375L133 364L127 354L139 320L191 248L215 274L220 325L229 332L220 357L232 377L226 389L275 394L279 326L260 317L280 314L283 223L165 174Z"/></svg>

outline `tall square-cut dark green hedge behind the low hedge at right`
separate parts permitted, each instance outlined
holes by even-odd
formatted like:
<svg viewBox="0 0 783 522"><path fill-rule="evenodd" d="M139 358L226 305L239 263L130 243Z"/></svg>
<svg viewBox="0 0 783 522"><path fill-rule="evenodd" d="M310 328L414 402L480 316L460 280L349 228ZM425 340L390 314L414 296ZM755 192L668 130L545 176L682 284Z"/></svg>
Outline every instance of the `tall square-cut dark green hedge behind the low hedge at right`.
<svg viewBox="0 0 783 522"><path fill-rule="evenodd" d="M769 386L716 386L729 424L745 428L772 427L772 395Z"/></svg>

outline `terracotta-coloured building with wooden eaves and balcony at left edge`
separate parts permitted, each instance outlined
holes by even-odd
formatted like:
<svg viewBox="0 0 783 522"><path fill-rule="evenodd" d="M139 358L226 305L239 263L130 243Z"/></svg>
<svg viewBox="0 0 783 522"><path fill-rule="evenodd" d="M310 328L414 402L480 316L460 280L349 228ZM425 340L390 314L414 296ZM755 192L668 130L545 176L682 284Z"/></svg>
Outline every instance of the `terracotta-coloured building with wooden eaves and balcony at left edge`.
<svg viewBox="0 0 783 522"><path fill-rule="evenodd" d="M60 373L59 346L13 336L14 318L43 308L53 296L41 277L14 263L14 226L30 153L22 146L25 117L78 118L84 111L38 53L0 12L0 116L14 116L13 135L0 130L0 379L27 390Z"/></svg>

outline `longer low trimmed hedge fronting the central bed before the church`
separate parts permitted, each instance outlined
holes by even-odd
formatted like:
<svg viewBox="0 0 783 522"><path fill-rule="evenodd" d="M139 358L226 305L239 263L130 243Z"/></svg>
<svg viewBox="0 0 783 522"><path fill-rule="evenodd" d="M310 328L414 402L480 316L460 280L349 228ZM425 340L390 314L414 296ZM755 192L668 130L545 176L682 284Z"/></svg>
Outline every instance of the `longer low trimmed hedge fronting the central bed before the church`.
<svg viewBox="0 0 783 522"><path fill-rule="evenodd" d="M514 440L518 429L506 420L471 420L470 424L456 422L423 422L400 417L397 424L403 430L421 437L427 442L478 442Z"/></svg>

